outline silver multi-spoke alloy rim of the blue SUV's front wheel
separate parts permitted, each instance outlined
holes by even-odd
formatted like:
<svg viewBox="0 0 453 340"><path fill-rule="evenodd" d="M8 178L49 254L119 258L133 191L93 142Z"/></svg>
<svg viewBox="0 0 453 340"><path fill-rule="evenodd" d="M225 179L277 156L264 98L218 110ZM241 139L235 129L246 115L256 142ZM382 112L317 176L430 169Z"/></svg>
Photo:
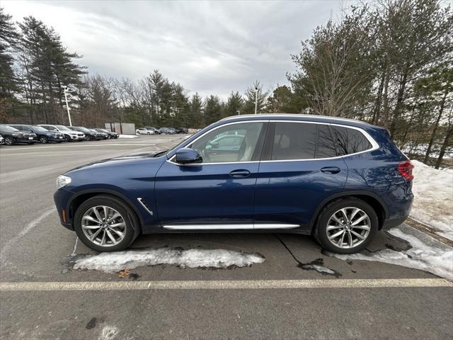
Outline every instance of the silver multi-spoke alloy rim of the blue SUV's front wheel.
<svg viewBox="0 0 453 340"><path fill-rule="evenodd" d="M86 210L81 227L84 235L98 246L115 246L126 234L124 218L107 205L96 205Z"/></svg>

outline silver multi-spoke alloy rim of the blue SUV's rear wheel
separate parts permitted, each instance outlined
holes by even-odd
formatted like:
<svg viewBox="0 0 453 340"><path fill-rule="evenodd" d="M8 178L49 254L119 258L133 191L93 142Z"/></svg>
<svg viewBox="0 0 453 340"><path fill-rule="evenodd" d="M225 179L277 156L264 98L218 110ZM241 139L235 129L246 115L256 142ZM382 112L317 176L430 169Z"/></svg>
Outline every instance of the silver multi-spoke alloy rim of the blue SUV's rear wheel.
<svg viewBox="0 0 453 340"><path fill-rule="evenodd" d="M339 248L348 249L365 242L371 229L369 216L355 207L336 211L327 222L327 238Z"/></svg>

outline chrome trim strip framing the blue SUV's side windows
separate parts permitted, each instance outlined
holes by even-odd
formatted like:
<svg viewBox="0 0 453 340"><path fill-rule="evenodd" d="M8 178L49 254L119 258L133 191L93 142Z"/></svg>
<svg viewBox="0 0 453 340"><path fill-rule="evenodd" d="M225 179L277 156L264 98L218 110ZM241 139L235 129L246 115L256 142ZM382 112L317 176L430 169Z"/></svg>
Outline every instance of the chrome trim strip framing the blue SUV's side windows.
<svg viewBox="0 0 453 340"><path fill-rule="evenodd" d="M227 118L224 118L224 119L227 119ZM342 118L336 118L338 120L342 120ZM276 160L268 160L268 161L249 161L249 162L217 162L217 163L194 163L194 164L178 164L176 162L172 162L173 159L176 157L176 155L173 155L173 157L171 157L171 159L167 159L166 162L168 163L171 163L171 164L176 164L178 166L201 166L201 165L219 165L219 164L247 164L247 163L272 163L272 162L307 162L307 161L324 161L324 160L327 160L327 159L340 159L340 158L344 158L344 157L349 157L349 156L354 156L356 154L363 154L365 152L372 152L374 150L377 150L379 149L379 144L377 144L377 142L374 140L373 137L371 137L369 135L368 132L366 132L365 130L363 130L362 128L357 128L356 126L351 126L351 125L344 125L344 124L336 124L336 123L325 123L325 122L309 122L309 121L305 121L305 120L241 120L239 122L232 122L232 123L226 123L226 124L222 124L222 125L219 125L219 126L216 126L215 128L211 129L211 130L208 130L207 132L203 133L202 135L198 136L197 138L195 138L195 140L193 140L193 142L190 142L189 145L192 145L194 142L196 142L197 140L199 140L201 137L207 135L207 133L213 131L213 130L217 130L217 128L222 128L223 126L226 126L226 125L233 125L233 124L240 124L240 123L253 123L253 122L257 122L257 123L304 123L304 124L321 124L321 125L330 125L330 126L339 126L341 128L349 128L349 129L352 129L352 130L357 130L357 131L360 131L360 133L362 133L362 135L365 136L365 138L367 138L368 142L372 145L372 147L370 149L366 149L364 151L360 151L360 152L354 152L353 154L345 154L343 156L336 156L336 157L327 157L327 158L313 158L313 159L276 159ZM187 147L187 146L185 146Z"/></svg>

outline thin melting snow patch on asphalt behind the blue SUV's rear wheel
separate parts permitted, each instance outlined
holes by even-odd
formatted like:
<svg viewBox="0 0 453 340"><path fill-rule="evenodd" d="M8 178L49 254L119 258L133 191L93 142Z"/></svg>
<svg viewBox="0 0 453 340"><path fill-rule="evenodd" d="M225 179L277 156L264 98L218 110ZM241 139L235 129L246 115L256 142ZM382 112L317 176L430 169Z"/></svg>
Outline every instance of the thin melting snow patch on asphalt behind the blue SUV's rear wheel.
<svg viewBox="0 0 453 340"><path fill-rule="evenodd" d="M415 230L414 230L415 231ZM432 237L429 243L437 244L437 246L428 245L428 242L422 242L417 237L406 234L401 229L393 228L389 233L405 239L412 246L411 249L406 251L394 251L391 249L379 250L369 254L331 254L342 260L365 260L365 261L379 261L384 263L397 264L408 268L420 269L421 271L428 271L437 276L453 280L453 248L449 246L440 246L440 242L435 241ZM421 232L420 232L421 233ZM428 235L425 235L428 238Z"/></svg>

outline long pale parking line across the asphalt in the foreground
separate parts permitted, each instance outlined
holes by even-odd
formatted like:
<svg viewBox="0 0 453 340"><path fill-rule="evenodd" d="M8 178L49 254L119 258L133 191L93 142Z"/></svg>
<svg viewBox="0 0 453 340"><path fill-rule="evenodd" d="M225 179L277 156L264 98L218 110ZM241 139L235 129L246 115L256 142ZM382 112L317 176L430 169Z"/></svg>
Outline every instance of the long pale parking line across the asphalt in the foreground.
<svg viewBox="0 0 453 340"><path fill-rule="evenodd" d="M379 278L328 280L202 280L2 282L0 291L68 290L197 290L197 289L313 289L313 288L434 288L453 287L443 278Z"/></svg>

